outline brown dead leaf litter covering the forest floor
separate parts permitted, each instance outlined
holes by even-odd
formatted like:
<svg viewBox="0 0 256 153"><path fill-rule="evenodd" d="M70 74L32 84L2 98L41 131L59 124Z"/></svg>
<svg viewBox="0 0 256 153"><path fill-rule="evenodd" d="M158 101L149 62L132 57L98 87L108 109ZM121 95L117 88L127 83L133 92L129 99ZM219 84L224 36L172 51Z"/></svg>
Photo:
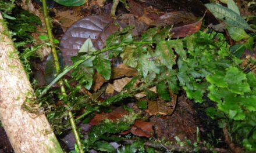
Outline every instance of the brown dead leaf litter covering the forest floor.
<svg viewBox="0 0 256 153"><path fill-rule="evenodd" d="M123 28L129 25L134 27L133 36L140 36L148 27L165 27L172 24L175 24L170 31L172 38L181 38L194 34L200 30L202 25L202 18L198 20L198 14L202 17L202 12L204 12L205 9L200 9L201 13L194 13L187 12L188 9L173 9L173 6L170 6L169 3L166 5L163 1L155 3L155 1L128 0L128 3L130 13L120 13L118 20L114 20L102 14L102 12L104 12L104 9L102 9L104 8L103 1L95 1L93 4L90 3L90 8L86 10L84 10L84 7L58 10L54 20L61 26L63 31L66 31L59 45L65 65L72 64L71 57L77 56L80 47L88 38L92 40L96 49L102 49L106 45L106 39L109 35L116 31L123 30ZM186 7L187 6L185 6L185 8ZM168 13L166 13L166 10L168 10ZM92 12L98 12L98 14L84 17L83 11L88 14ZM207 15L211 16L211 14ZM212 18L208 17L208 19ZM115 96L115 94L122 92L122 89L139 74L136 69L123 64L125 61L121 60L118 64L115 64L115 58L116 57L113 57L111 59L111 78L105 79L101 74L95 72L93 75L92 90L90 90L90 92L101 92L101 96L104 94ZM137 81L134 83L133 87L138 88L140 85L140 82ZM102 94L100 90L103 88L106 89ZM157 93L155 86L150 89L152 94ZM143 93L145 92L138 94ZM169 92L169 94L169 101L163 100L161 97L152 100L146 99L145 101L148 105L147 110L140 110L138 108L136 110L134 107L137 106L129 107L129 102L132 103L134 99L126 99L125 101L128 101L128 104L125 103L125 105L122 105L123 107L115 106L112 111L106 109L106 112L95 114L91 116L90 122L88 123L91 126L98 125L100 127L101 123L108 119L111 121L119 121L122 120L124 116L130 114L129 109L134 108L134 111L140 111L143 115L148 116L148 118L135 119L134 123L130 124L129 130L127 129L125 132L119 134L132 133L135 136L147 138L155 134L154 136L159 140L177 141L175 137L179 137L182 141L186 141L187 139L192 142L197 141L196 130L198 127L198 119L195 117L196 112L193 108L193 104L191 104L191 101L187 100L184 95L177 96L172 92ZM137 96L135 101L145 96L146 94L144 94L144 96ZM101 101L98 97L95 99ZM104 99L106 99L106 97Z"/></svg>

